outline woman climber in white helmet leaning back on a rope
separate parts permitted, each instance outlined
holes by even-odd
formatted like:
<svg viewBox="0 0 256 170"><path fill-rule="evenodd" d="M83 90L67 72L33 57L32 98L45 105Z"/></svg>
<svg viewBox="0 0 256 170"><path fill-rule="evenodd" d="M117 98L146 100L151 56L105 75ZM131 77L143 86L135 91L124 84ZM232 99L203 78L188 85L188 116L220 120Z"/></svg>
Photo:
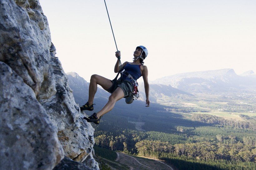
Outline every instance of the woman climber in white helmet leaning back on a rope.
<svg viewBox="0 0 256 170"><path fill-rule="evenodd" d="M88 110L93 111L93 99L95 96L95 93L97 91L97 85L100 85L104 90L111 93L108 102L106 105L97 113L93 113L91 116L84 117L84 119L87 120L87 122L93 122L95 124L100 123L101 117L106 114L107 112L111 111L113 107L115 106L115 103L122 99L123 97L126 98L126 103L130 104L133 100L133 91L134 91L134 85L133 81L137 80L141 76L144 80L144 86L145 86L145 94L146 94L146 107L149 107L150 101L149 101L149 83L148 83L148 68L143 65L144 59L148 55L148 50L144 46L138 46L136 47L136 50L133 53L133 62L125 62L120 66L120 51L116 52L116 57L118 58L116 65L115 65L115 73L118 73L120 71L121 77L115 81L110 80L107 78L104 78L99 75L92 75L89 85L89 98L88 102L80 107L81 111ZM121 70L120 70L121 68ZM124 68L124 69L122 69ZM125 71L124 71L125 70ZM122 71L124 71L122 73ZM127 100L128 99L128 100Z"/></svg>

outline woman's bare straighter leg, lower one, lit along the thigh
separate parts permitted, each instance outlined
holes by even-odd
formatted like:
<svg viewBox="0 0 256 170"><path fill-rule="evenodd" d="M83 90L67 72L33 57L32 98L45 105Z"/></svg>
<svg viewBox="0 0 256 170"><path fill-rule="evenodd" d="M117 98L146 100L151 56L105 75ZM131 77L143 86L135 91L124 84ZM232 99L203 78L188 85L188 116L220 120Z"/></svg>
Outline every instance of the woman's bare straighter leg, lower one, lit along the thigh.
<svg viewBox="0 0 256 170"><path fill-rule="evenodd" d="M97 117L100 118L107 112L111 111L114 108L116 102L123 97L124 97L123 90L120 87L117 87L116 90L109 97L106 105L97 113Z"/></svg>

